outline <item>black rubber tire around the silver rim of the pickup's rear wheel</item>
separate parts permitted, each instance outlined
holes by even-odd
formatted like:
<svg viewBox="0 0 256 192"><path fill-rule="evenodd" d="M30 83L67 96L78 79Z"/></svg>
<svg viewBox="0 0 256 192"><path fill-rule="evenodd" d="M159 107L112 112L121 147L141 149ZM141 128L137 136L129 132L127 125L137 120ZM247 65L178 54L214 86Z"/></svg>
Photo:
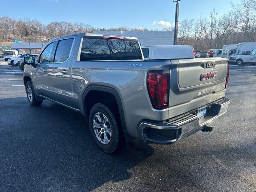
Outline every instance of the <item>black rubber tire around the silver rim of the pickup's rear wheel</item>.
<svg viewBox="0 0 256 192"><path fill-rule="evenodd" d="M110 128L111 128L111 137L107 144L102 143L106 130L104 130L104 128L97 128L97 130L94 131L93 122L94 122L97 114L104 114L108 120L108 122L106 122L106 126L108 126L108 124L109 124ZM94 106L92 106L92 108L90 110L89 128L90 128L90 132L92 134L92 138L94 139L95 143L100 147L100 149L106 153L114 152L115 150L120 148L125 143L124 135L122 132L122 127L121 127L119 119L120 118L116 112L116 109L107 103L104 103L104 104L97 103ZM104 131L104 133L102 132L100 134L100 136L102 136L102 134L103 134L102 142L100 142L100 140L96 137L96 132L101 132L101 131L98 131L98 129L102 129L101 131Z"/></svg>

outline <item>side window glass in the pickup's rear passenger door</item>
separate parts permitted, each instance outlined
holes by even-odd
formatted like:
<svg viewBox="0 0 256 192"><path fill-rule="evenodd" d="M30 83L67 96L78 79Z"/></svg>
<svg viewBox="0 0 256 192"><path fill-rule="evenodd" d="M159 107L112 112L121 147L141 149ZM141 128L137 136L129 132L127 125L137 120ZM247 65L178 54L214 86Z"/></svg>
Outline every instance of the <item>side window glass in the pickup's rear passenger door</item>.
<svg viewBox="0 0 256 192"><path fill-rule="evenodd" d="M54 62L64 62L68 60L73 41L74 39L65 39L58 42Z"/></svg>

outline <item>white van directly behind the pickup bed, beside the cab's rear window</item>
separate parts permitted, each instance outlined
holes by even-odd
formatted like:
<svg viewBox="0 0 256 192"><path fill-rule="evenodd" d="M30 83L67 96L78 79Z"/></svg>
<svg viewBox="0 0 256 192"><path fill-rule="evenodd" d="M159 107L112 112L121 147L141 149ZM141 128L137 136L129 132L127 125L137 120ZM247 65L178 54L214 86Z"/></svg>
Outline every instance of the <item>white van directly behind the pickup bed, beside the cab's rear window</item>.
<svg viewBox="0 0 256 192"><path fill-rule="evenodd" d="M190 45L142 46L145 60L151 59L194 59L194 48Z"/></svg>

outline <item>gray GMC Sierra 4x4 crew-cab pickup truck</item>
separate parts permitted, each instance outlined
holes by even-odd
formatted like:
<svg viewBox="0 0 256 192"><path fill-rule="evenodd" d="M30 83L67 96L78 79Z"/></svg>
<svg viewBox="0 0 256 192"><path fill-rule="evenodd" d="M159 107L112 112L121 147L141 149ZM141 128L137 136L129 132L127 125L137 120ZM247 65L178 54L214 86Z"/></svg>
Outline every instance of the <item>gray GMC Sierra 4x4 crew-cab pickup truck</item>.
<svg viewBox="0 0 256 192"><path fill-rule="evenodd" d="M230 103L226 58L144 60L137 38L63 36L24 64L30 105L48 99L81 112L107 153L134 138L172 144L211 131Z"/></svg>

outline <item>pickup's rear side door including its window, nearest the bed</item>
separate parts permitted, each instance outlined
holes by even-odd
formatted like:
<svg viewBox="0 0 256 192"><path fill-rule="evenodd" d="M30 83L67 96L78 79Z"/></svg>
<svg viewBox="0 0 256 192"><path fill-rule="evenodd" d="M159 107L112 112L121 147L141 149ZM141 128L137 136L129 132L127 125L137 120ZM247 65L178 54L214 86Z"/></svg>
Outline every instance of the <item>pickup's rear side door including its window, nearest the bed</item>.
<svg viewBox="0 0 256 192"><path fill-rule="evenodd" d="M75 38L59 40L56 43L53 62L48 68L49 98L60 103L74 107L73 91L71 87L70 72L72 60L72 45Z"/></svg>

